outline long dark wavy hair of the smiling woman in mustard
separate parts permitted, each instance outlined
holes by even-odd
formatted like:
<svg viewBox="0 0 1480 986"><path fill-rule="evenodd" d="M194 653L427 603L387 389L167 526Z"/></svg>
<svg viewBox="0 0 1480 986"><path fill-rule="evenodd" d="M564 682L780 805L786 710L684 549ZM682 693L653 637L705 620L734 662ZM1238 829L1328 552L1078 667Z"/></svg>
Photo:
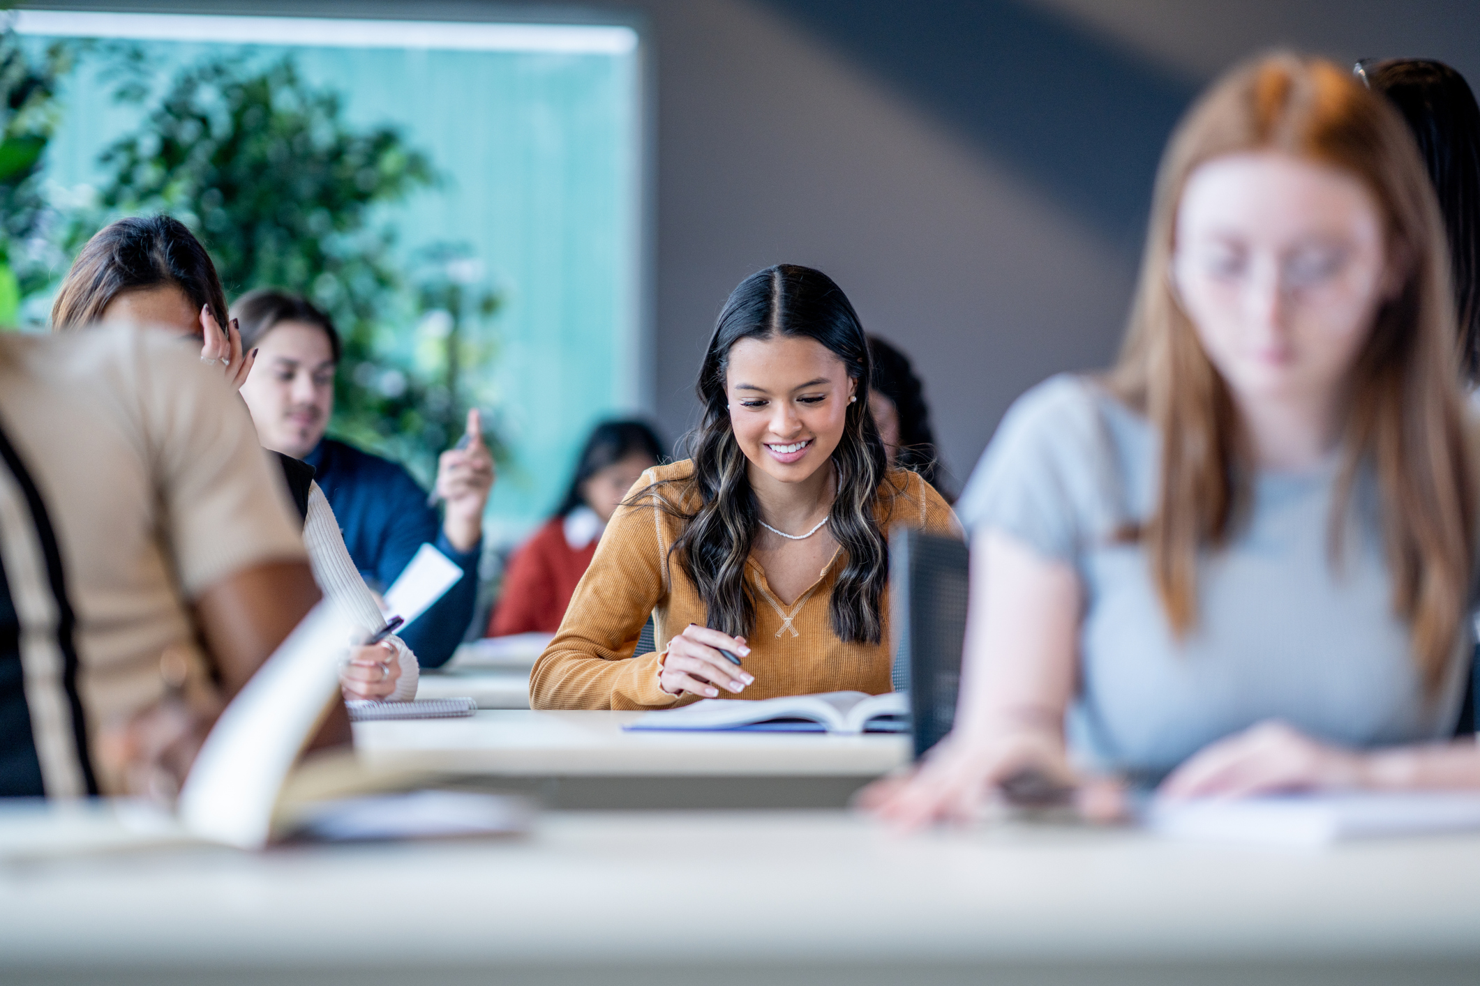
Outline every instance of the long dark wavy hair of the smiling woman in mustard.
<svg viewBox="0 0 1480 986"><path fill-rule="evenodd" d="M694 472L687 479L665 480L679 486L679 504L697 500L697 509L685 513L666 497L656 497L660 509L684 522L669 556L699 588L710 627L737 637L750 636L755 599L744 581L744 566L759 526L759 509L750 489L747 460L730 427L725 371L730 349L741 339L777 336L821 343L858 381L854 390L858 399L848 405L842 441L832 454L836 497L827 528L848 559L832 594L832 628L848 643L879 643L889 548L873 507L888 458L869 414L867 337L842 288L821 271L783 263L752 273L719 312L696 386L704 409L703 423L684 439ZM635 500L645 498L650 491Z"/></svg>

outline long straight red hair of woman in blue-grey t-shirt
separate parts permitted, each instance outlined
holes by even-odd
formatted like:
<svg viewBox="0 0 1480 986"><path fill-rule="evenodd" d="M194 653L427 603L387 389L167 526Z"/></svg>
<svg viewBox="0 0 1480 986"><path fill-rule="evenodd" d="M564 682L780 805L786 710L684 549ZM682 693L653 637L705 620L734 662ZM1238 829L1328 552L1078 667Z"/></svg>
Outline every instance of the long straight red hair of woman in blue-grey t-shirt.
<svg viewBox="0 0 1480 986"><path fill-rule="evenodd" d="M1162 436L1157 506L1135 534L1178 634L1196 624L1197 553L1227 543L1249 498L1248 439L1171 282L1177 208L1188 176L1228 154L1279 151L1363 183L1402 287L1376 312L1348 377L1332 563L1362 469L1376 479L1393 609L1433 690L1465 616L1476 475L1458 389L1443 222L1399 114L1348 72L1277 53L1234 69L1184 117L1162 157L1140 282L1111 389Z"/></svg>

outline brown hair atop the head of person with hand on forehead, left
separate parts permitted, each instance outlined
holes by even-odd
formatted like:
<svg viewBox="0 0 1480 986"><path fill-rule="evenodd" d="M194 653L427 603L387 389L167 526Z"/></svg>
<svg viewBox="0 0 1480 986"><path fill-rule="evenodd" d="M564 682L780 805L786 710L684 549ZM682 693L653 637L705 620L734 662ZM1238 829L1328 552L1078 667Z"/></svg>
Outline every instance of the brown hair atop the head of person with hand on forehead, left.
<svg viewBox="0 0 1480 986"><path fill-rule="evenodd" d="M226 325L226 294L195 234L169 216L120 219L77 254L52 305L52 331L92 325L120 294L164 285L179 288L197 310L209 306L216 324Z"/></svg>

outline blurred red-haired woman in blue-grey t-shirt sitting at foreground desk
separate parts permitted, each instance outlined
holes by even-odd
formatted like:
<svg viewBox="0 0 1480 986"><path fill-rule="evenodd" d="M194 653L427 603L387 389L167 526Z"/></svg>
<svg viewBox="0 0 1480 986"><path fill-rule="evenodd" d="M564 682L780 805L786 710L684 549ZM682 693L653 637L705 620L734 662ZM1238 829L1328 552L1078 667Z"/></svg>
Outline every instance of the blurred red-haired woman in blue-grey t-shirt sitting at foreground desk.
<svg viewBox="0 0 1480 986"><path fill-rule="evenodd" d="M1026 767L1177 797L1447 772L1480 506L1447 273L1379 96L1291 55L1220 81L1163 157L1119 364L1021 398L962 495L956 729L870 803L969 816Z"/></svg>

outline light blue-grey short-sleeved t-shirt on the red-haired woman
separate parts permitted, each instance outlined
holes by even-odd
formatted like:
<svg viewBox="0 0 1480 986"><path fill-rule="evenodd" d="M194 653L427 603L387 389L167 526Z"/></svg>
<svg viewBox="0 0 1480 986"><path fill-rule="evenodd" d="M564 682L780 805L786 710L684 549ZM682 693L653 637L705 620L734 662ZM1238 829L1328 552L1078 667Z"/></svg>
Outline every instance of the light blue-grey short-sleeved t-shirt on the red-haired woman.
<svg viewBox="0 0 1480 986"><path fill-rule="evenodd" d="M1154 506L1157 449L1150 423L1100 384L1052 377L1012 405L956 504L972 531L1002 531L1079 574L1077 755L1159 775L1267 718L1351 747L1453 732L1473 630L1467 621L1450 674L1425 698L1393 612L1370 476L1333 562L1335 460L1259 473L1230 544L1200 557L1197 624L1178 640L1141 545L1114 538Z"/></svg>

